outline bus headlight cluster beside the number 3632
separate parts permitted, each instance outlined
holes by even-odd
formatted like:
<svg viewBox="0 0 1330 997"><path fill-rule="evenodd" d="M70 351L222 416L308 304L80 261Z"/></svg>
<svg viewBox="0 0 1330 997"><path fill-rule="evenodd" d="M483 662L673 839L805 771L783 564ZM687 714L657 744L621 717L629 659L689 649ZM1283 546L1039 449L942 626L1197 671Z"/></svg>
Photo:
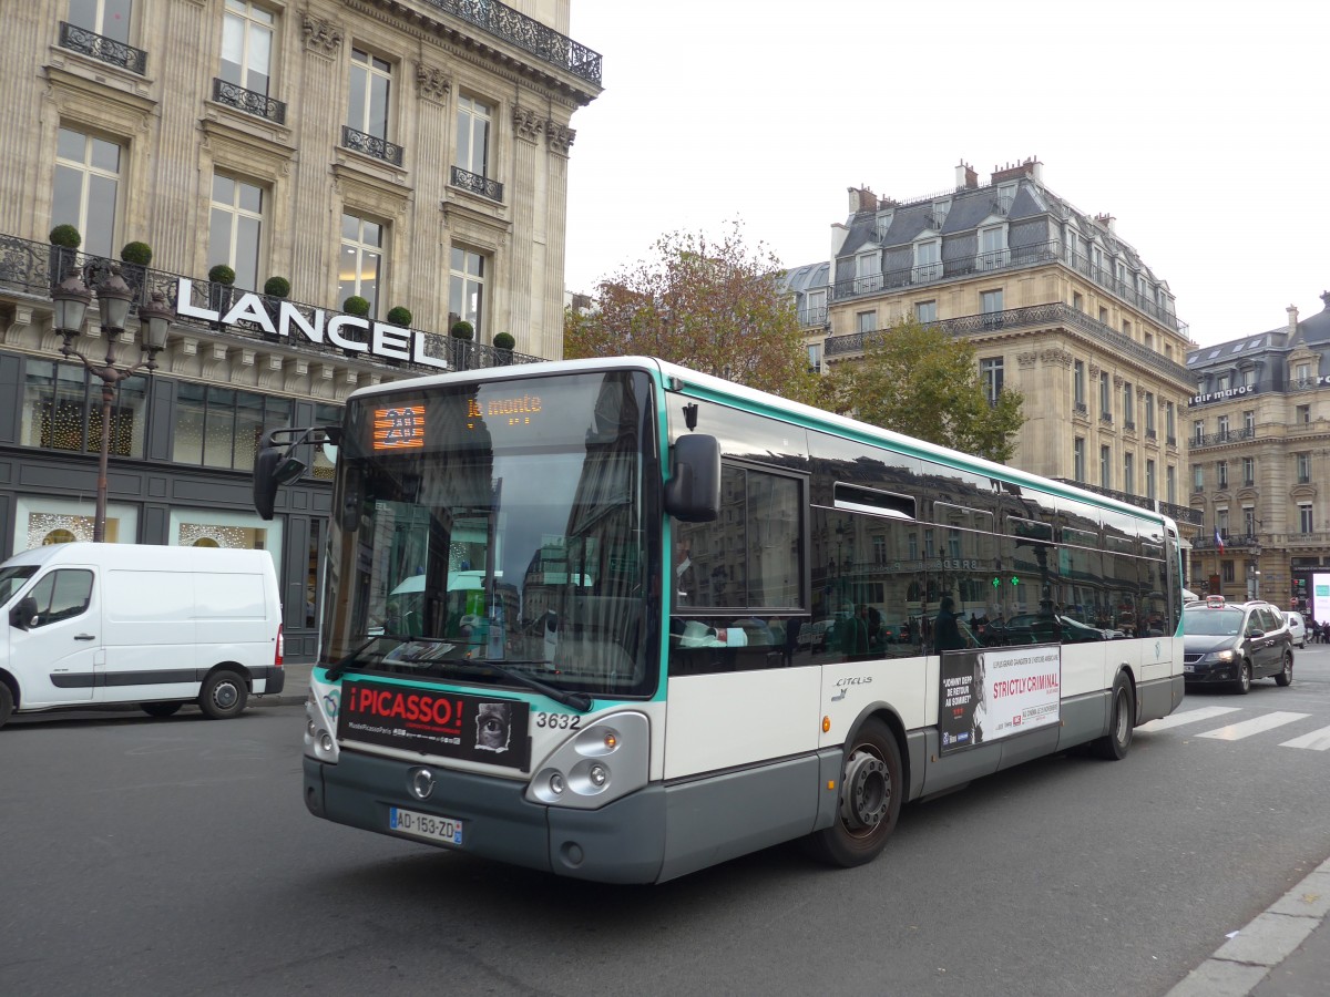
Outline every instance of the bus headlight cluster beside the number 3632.
<svg viewBox="0 0 1330 997"><path fill-rule="evenodd" d="M649 758L646 714L602 717L549 754L527 787L527 799L577 810L604 807L646 786Z"/></svg>

